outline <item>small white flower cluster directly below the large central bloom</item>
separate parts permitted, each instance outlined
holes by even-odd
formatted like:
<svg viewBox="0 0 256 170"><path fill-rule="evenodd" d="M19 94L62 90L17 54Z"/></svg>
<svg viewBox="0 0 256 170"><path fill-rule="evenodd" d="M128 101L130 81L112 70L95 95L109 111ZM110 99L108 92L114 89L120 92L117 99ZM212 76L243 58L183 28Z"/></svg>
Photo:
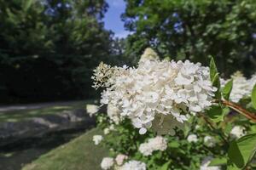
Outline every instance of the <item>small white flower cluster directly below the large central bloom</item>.
<svg viewBox="0 0 256 170"><path fill-rule="evenodd" d="M147 143L140 144L139 151L143 154L143 156L150 156L154 150L164 151L166 148L166 139L161 136L157 136L153 139L148 139Z"/></svg>

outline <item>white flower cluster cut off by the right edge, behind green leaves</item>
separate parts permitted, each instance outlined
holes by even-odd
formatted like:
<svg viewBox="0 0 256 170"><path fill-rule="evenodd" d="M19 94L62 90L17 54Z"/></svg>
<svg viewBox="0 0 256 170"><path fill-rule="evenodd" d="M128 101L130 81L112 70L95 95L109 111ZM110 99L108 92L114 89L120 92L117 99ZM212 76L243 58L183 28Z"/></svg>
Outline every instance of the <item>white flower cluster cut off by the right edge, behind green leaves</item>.
<svg viewBox="0 0 256 170"><path fill-rule="evenodd" d="M240 71L236 71L231 78L233 79L233 88L230 93L231 101L237 103L240 99L251 95L253 86L256 83L256 74L254 74L250 79L247 79ZM224 86L224 83L228 81L221 81L222 86Z"/></svg>

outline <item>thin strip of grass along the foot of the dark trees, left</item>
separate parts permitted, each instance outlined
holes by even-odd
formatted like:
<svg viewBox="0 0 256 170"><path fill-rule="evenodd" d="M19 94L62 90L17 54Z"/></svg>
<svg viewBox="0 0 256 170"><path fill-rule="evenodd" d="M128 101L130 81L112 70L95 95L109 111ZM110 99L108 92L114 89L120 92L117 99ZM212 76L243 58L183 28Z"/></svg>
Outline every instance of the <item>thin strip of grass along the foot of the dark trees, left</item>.
<svg viewBox="0 0 256 170"><path fill-rule="evenodd" d="M88 103L91 103L91 101L78 101L69 105L55 105L35 110L2 111L0 112L0 122L20 122L33 117L61 114L62 111L85 108L85 105Z"/></svg>

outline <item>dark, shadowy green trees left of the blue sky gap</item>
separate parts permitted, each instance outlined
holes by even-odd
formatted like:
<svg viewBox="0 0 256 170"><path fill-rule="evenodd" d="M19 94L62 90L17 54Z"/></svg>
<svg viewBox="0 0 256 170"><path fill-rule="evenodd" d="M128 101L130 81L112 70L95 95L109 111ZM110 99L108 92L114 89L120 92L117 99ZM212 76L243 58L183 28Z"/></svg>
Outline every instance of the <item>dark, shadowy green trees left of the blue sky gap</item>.
<svg viewBox="0 0 256 170"><path fill-rule="evenodd" d="M103 0L0 0L1 102L95 96L91 70L120 56L103 28L107 8Z"/></svg>

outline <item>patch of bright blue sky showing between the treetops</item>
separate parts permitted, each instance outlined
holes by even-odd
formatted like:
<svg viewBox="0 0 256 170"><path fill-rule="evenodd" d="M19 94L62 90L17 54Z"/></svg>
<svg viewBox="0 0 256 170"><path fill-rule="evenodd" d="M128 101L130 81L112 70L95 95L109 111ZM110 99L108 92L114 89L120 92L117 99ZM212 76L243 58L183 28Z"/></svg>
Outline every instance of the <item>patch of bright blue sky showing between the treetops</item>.
<svg viewBox="0 0 256 170"><path fill-rule="evenodd" d="M124 22L120 18L120 15L125 12L125 2L123 0L107 0L107 3L109 8L103 19L105 28L112 30L115 37L127 37L129 31L125 31Z"/></svg>

